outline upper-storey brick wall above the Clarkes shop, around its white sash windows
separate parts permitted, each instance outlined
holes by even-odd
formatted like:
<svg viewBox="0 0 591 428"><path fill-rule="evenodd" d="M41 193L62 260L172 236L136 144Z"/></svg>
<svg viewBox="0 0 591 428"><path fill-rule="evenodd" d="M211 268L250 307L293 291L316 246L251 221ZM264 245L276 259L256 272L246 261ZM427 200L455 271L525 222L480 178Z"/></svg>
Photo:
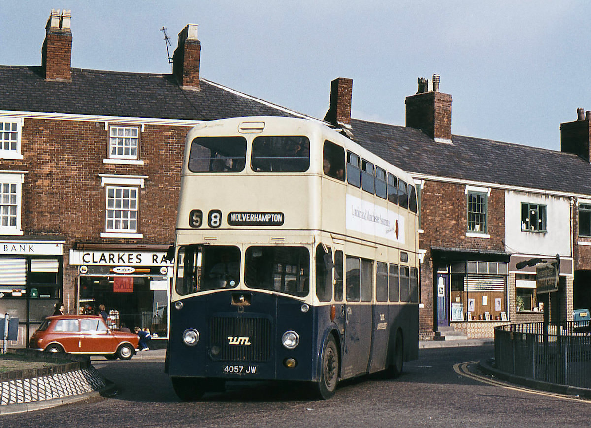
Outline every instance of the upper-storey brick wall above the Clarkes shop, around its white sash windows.
<svg viewBox="0 0 591 428"><path fill-rule="evenodd" d="M115 124L113 122L113 124ZM0 170L25 170L22 230L25 236L61 236L64 245L64 303L74 303L76 268L69 265L75 241L169 244L174 228L190 127L137 124L144 165L105 164L109 131L105 122L25 119L21 160L0 159ZM126 125L129 126L129 125ZM138 232L143 239L101 238L105 232L106 188L99 174L147 176L139 189Z"/></svg>

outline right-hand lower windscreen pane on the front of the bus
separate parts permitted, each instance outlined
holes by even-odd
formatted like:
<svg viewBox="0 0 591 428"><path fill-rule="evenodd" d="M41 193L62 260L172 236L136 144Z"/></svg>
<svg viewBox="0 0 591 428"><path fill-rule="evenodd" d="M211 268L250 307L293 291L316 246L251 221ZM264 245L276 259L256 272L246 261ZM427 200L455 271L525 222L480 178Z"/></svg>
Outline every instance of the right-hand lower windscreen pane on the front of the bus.
<svg viewBox="0 0 591 428"><path fill-rule="evenodd" d="M245 282L250 288L305 297L310 290L310 252L305 247L249 247Z"/></svg>

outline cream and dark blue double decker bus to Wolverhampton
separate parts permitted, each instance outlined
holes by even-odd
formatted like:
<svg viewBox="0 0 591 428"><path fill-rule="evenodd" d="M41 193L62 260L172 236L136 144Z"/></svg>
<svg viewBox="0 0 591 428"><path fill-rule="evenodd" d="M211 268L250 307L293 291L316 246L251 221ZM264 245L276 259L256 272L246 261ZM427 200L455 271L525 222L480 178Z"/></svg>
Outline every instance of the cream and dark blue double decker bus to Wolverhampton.
<svg viewBox="0 0 591 428"><path fill-rule="evenodd" d="M165 371L182 400L226 381L402 372L418 356L411 177L319 121L187 135Z"/></svg>

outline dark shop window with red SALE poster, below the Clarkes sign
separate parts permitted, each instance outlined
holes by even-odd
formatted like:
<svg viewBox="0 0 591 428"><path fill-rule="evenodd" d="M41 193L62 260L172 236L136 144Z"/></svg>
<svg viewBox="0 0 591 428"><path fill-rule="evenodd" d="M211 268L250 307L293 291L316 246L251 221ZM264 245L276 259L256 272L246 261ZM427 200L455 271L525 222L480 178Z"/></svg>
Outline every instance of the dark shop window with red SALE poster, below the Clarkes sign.
<svg viewBox="0 0 591 428"><path fill-rule="evenodd" d="M80 313L98 314L104 304L115 328L148 328L153 338L168 337L167 290L149 276L81 276Z"/></svg>

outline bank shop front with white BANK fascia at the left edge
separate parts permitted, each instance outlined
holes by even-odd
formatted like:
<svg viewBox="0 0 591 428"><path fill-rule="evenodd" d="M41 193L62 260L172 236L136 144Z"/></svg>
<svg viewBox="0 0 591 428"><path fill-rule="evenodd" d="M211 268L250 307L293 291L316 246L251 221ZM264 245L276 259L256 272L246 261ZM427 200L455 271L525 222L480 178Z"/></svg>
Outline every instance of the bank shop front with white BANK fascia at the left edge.
<svg viewBox="0 0 591 428"><path fill-rule="evenodd" d="M57 302L69 304L69 296L62 296L63 245L47 239L0 240L0 314L19 320L13 345L26 346Z"/></svg>

